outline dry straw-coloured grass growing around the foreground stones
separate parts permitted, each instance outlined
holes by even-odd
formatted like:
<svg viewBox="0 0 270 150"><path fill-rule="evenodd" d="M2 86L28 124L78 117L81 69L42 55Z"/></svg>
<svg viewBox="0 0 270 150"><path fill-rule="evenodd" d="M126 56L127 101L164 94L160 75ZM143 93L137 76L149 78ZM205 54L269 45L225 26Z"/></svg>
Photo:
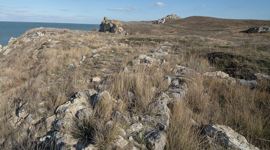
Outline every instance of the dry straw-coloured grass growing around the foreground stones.
<svg viewBox="0 0 270 150"><path fill-rule="evenodd" d="M71 132L74 138L79 140L91 140L100 148L106 148L117 138L120 132L116 128L117 126L123 129L128 127L119 121L105 124L111 120L112 113L119 111L129 117L152 114L147 107L154 101L157 92L168 89L162 78L165 75L173 76L170 69L176 65L190 67L198 73L211 71L209 67L216 67L216 69L224 71L228 66L213 64L208 60L206 54L226 52L235 55L235 58L226 60L226 62L232 61L232 63L239 64L247 61L239 60L237 55L254 56L256 59L269 58L270 55L267 43L247 45L230 40L213 40L209 37L165 35L144 36L143 38L150 38L150 40L139 41L136 44L136 40L124 41L131 37L104 33L97 35L96 33L93 32L86 37L67 33L59 34L55 39L61 41L61 46L53 49L45 48L46 50L32 57L35 49L47 41L46 38L40 39L36 41L36 47L29 45L29 53L14 51L10 53L8 59L4 59L0 66L0 77L7 78L5 82L1 82L0 86L1 149L44 149L44 147L37 147L38 137L44 134L44 122L33 127L34 130L29 131L29 134L20 135L23 129L13 129L7 120L20 102L23 104L28 102L30 105L27 110L36 113L39 109L38 104L46 101L47 112L42 117L47 118L53 115L56 108L68 101L74 93L83 88L95 87L93 84L78 82L79 79L86 81L95 76L107 79L105 90L122 103L113 107L113 101L106 97L102 98L94 109L95 113L83 121L82 126L85 127L83 130L79 126L71 125L70 129L65 132ZM65 37L66 39L64 39ZM83 41L83 46L71 45L69 40L81 41L78 39ZM148 68L143 65L131 66L130 61L136 55L144 54L149 52L150 48L157 49L166 44L160 39L175 44L166 58L167 66L158 68ZM114 52L99 49L104 46L103 41L106 40L112 44L111 50ZM124 41L121 43L127 43L130 46L118 46L112 41ZM154 42L151 43L151 41ZM263 49L263 46L266 48ZM93 55L91 52L93 49L105 53L104 57L89 59ZM129 54L123 55L125 52ZM113 57L110 56L112 54ZM83 55L87 57L84 64L77 68L67 68L67 65L81 61ZM20 56L19 59L18 56ZM118 58L121 58L121 61ZM257 64L257 62L246 63L247 68L253 72L265 71L261 69L261 66L267 67L266 63L258 64L259 67L256 66ZM128 67L130 73L124 72L124 67ZM222 68L225 69L222 70ZM104 73L103 69L113 70L113 72ZM241 68L235 68L234 71L238 71L237 76L249 77L251 74L244 72ZM269 74L269 72L264 73ZM230 76L236 75L230 74ZM224 85L215 79L194 74L186 74L186 77L194 78L190 82L186 82L189 88L187 95L179 102L169 106L171 114L170 126L167 129L166 149L212 149L212 145L208 144L200 133L205 126L214 124L227 125L243 135L249 143L260 149L269 149L269 81L259 81L258 88L250 89L241 85ZM61 80L56 83L59 78ZM128 91L135 94L135 101L132 103L127 100ZM190 124L189 111L193 112L192 118L199 127L195 128ZM86 137L87 135L88 137ZM141 142L143 143L143 140ZM50 149L57 148L52 145Z"/></svg>

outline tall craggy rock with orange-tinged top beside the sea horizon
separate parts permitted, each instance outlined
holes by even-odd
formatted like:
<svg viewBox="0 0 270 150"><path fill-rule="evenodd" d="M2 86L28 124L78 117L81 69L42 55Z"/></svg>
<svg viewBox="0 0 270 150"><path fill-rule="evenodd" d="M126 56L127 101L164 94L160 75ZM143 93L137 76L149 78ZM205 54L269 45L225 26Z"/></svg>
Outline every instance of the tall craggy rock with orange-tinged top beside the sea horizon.
<svg viewBox="0 0 270 150"><path fill-rule="evenodd" d="M117 34L122 34L122 35L128 35L127 32L123 31L119 21L108 20L107 17L104 17L104 20L101 22L99 27L100 27L99 32L111 32L111 33L117 33Z"/></svg>

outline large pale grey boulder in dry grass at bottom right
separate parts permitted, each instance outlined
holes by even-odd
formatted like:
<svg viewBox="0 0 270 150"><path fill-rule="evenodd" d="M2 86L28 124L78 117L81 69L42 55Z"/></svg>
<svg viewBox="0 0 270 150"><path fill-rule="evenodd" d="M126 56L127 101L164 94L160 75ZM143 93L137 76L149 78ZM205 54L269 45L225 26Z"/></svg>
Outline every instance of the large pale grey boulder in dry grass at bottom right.
<svg viewBox="0 0 270 150"><path fill-rule="evenodd" d="M225 149L259 150L259 148L248 143L245 137L225 125L207 126L202 133L208 137L208 140Z"/></svg>

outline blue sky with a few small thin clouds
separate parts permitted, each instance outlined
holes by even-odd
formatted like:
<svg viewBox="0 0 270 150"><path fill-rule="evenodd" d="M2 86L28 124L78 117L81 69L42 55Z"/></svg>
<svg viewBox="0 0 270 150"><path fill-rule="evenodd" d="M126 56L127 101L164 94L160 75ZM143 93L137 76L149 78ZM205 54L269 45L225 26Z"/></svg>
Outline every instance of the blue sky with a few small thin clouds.
<svg viewBox="0 0 270 150"><path fill-rule="evenodd" d="M0 21L100 24L157 20L169 14L270 20L270 0L0 0Z"/></svg>

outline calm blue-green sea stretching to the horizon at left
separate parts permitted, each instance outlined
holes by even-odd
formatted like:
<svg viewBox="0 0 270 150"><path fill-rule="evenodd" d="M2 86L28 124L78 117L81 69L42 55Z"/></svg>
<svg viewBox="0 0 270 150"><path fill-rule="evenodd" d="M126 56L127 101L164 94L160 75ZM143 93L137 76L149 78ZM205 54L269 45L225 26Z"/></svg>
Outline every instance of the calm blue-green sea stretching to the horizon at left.
<svg viewBox="0 0 270 150"><path fill-rule="evenodd" d="M6 46L11 37L18 38L26 30L40 27L50 27L70 30L90 31L99 29L95 24L75 24L75 23L45 23L45 22L4 22L0 21L0 45Z"/></svg>

